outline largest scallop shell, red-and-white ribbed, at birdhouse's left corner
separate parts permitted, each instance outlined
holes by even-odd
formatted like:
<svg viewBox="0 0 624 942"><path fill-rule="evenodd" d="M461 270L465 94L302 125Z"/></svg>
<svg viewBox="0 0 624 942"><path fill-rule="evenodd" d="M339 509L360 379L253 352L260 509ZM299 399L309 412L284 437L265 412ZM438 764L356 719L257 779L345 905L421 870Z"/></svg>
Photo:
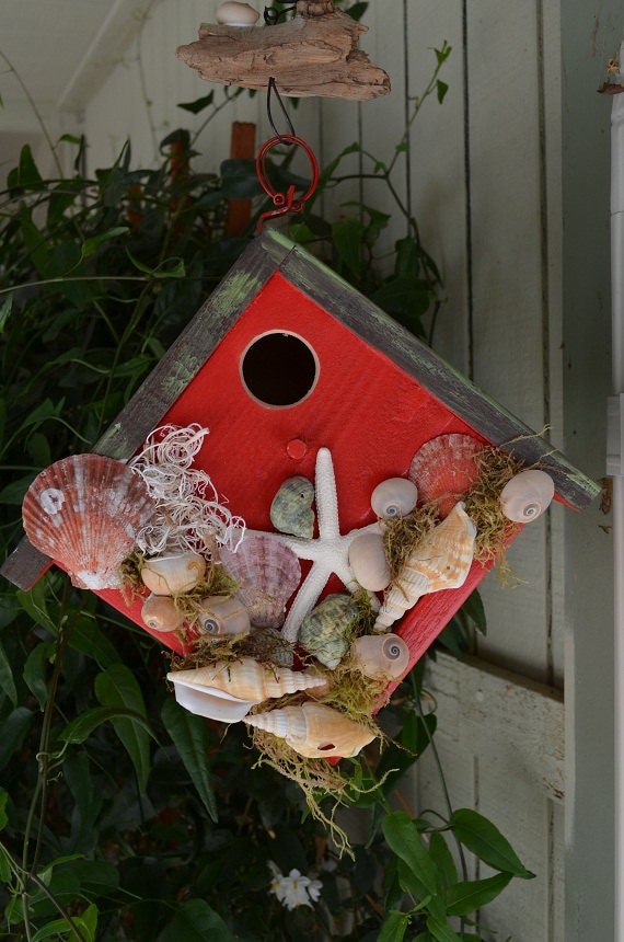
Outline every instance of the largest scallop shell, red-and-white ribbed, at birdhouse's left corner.
<svg viewBox="0 0 624 942"><path fill-rule="evenodd" d="M22 505L31 543L79 588L117 585L116 570L155 512L145 483L102 455L62 458L38 474Z"/></svg>

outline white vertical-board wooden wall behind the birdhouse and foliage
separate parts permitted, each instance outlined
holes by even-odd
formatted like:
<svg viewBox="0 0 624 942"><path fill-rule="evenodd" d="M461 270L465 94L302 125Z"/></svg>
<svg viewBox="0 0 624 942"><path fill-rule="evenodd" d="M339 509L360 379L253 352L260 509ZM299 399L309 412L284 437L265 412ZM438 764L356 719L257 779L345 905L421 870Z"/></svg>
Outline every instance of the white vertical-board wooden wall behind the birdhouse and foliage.
<svg viewBox="0 0 624 942"><path fill-rule="evenodd" d="M126 137L135 159L150 161L171 129L198 126L201 116L175 105L212 87L173 53L215 7L152 3L84 111L91 166L109 162ZM388 161L406 95L425 88L431 48L450 43L447 100L426 104L395 179L443 276L435 346L527 424L551 426L554 445L594 478L604 473L610 391L609 103L596 89L619 47L621 14L615 0L371 0L362 46L391 73L392 95L362 105L302 100L292 111L321 162L355 140ZM198 140L206 166L228 157L236 118L257 120L258 139L268 136L264 96L245 94ZM325 211L348 211L338 204L357 198L357 187L336 192ZM381 184L367 182L362 195L389 209ZM397 220L392 238L402 234ZM475 658L466 666L440 658L430 671L453 803L493 818L538 874L488 907L501 940L613 938L603 526L597 504L582 517L557 505L528 528L509 554L521 584L507 589L495 576L484 584L488 634L475 641ZM414 808L440 805L431 758L419 768Z"/></svg>

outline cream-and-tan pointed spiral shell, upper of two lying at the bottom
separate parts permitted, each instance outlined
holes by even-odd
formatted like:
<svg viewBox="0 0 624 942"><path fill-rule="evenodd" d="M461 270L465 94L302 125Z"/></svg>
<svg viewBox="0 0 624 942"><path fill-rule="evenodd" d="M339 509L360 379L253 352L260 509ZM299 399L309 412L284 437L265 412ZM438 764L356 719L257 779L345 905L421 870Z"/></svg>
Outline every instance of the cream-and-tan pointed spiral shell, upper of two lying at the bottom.
<svg viewBox="0 0 624 942"><path fill-rule="evenodd" d="M192 683L194 688L222 690L231 697L249 700L252 703L262 703L268 698L321 687L325 682L321 675L313 671L263 665L253 657L216 660L206 667L176 670L167 675L167 680Z"/></svg>

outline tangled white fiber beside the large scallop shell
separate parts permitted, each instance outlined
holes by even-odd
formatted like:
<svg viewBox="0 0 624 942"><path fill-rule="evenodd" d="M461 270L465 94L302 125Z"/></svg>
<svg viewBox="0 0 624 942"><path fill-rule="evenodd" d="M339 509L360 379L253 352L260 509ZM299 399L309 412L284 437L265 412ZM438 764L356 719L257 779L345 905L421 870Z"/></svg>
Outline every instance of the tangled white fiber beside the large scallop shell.
<svg viewBox="0 0 624 942"><path fill-rule="evenodd" d="M171 550L210 555L215 544L235 551L243 539L244 520L219 503L208 474L192 468L208 433L196 422L186 427L163 425L128 462L158 507L155 518L137 536L146 555Z"/></svg>

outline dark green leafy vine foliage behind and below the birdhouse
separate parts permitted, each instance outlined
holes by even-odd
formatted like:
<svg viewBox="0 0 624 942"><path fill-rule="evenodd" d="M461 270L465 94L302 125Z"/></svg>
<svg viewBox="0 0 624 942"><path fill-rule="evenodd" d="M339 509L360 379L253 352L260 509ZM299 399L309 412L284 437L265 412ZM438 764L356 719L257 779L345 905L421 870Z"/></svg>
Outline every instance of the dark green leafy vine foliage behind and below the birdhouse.
<svg viewBox="0 0 624 942"><path fill-rule="evenodd" d="M361 15L366 4L350 7ZM441 101L437 50L430 87ZM226 93L226 102L238 93ZM213 92L182 107L215 105ZM403 140L398 156L406 147ZM89 450L180 334L251 238L226 231L229 198L262 196L253 161L197 174L193 141L163 141L154 170L130 147L112 166L45 180L23 148L0 194L0 467L2 539L21 536L20 505L38 471ZM348 148L324 170L339 185ZM372 161L391 203L397 157ZM285 154L280 187L301 181ZM385 203L382 200L383 205ZM437 305L439 275L415 220L390 275L377 251L390 215L345 204L328 221L312 204L292 223L330 261L415 333ZM351 211L355 210L355 211ZM224 730L181 709L166 689L166 656L96 597L50 571L30 591L0 597L0 907L5 932L46 939L372 942L481 939L464 920L512 876L531 874L497 829L470 809L435 822L392 811L405 772L435 751L435 714L419 712L418 668L386 711L395 733L380 757L350 761L347 801L366 838L338 858L305 813L299 789L255 768L242 724ZM485 627L478 599L466 618ZM319 796L322 801L323 796ZM471 880L465 861L493 868ZM321 898L285 908L269 862L315 874ZM380 880L380 874L383 878ZM466 922L467 924L467 922Z"/></svg>

